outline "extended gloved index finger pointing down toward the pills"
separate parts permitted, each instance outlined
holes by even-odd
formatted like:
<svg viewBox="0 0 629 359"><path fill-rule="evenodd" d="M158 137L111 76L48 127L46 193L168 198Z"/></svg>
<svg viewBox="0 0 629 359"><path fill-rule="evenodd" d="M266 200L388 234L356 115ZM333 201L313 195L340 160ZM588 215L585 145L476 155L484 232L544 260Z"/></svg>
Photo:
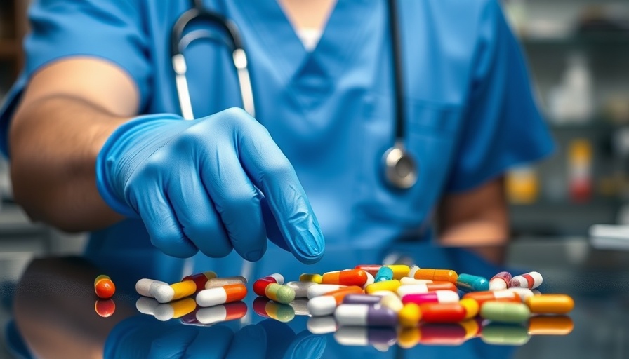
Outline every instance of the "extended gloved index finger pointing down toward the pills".
<svg viewBox="0 0 629 359"><path fill-rule="evenodd" d="M293 166L262 126L243 132L238 137L241 161L267 198L291 252L303 263L318 262L323 234Z"/></svg>

